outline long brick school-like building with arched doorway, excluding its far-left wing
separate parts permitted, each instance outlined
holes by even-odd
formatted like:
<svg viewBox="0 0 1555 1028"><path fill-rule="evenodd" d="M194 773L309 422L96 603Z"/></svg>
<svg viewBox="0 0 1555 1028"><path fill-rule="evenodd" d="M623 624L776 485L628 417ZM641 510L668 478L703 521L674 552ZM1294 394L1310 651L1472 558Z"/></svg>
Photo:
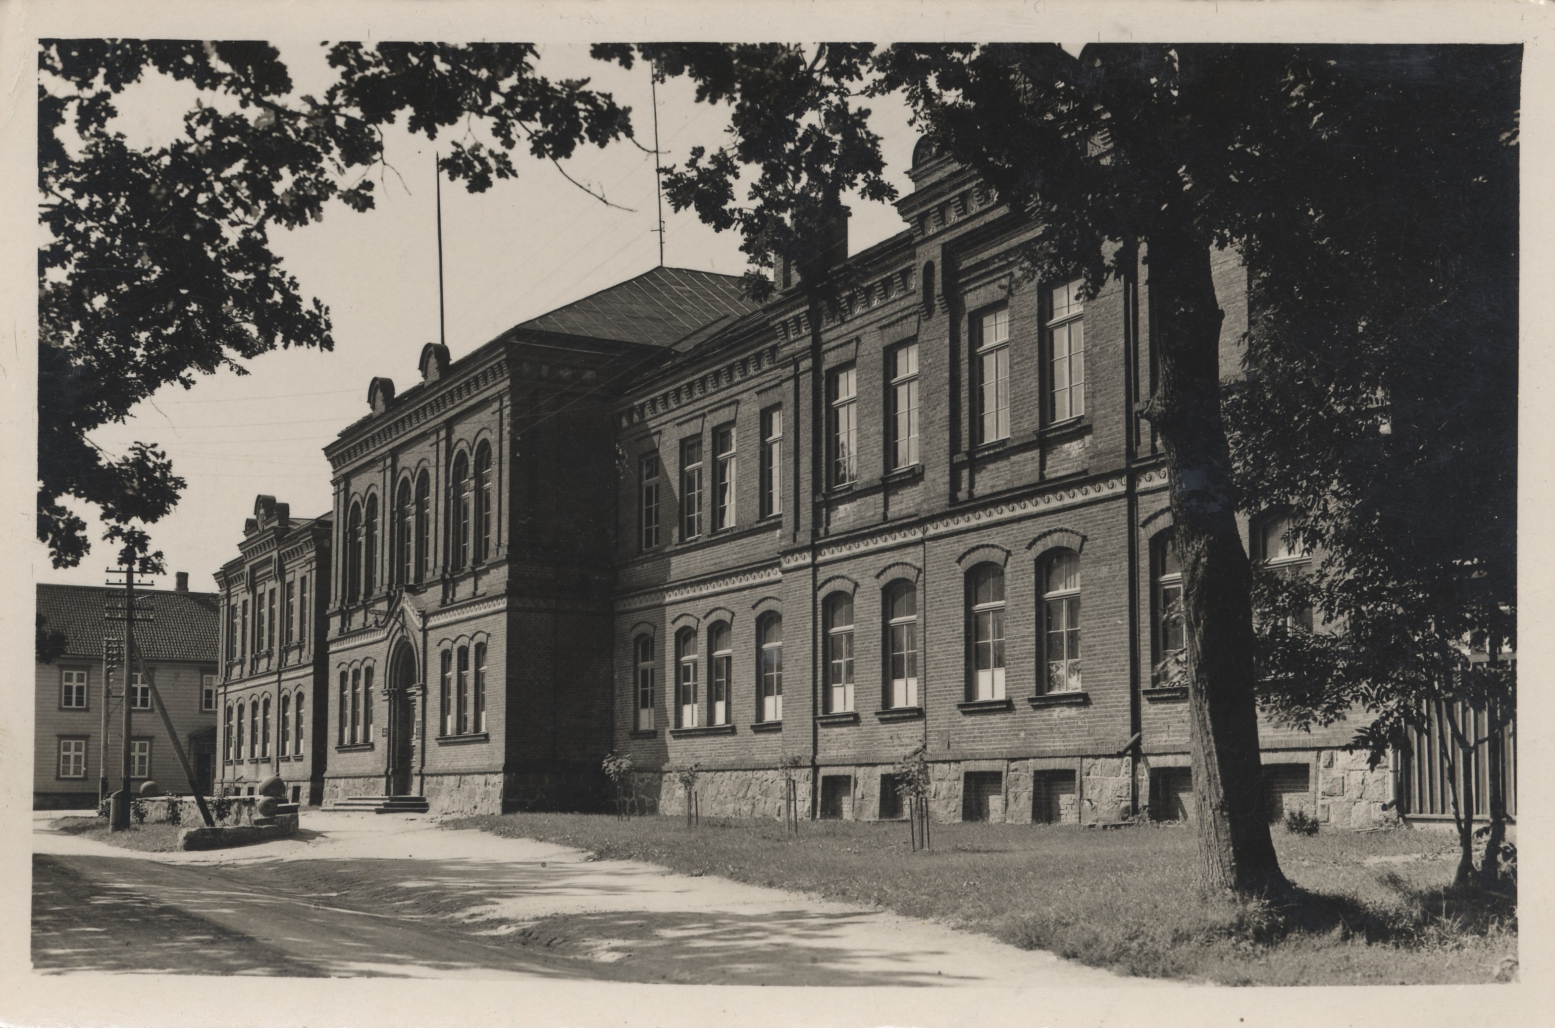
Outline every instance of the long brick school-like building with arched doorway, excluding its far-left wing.
<svg viewBox="0 0 1555 1028"><path fill-rule="evenodd" d="M614 750L662 810L695 762L708 813L778 815L796 773L813 816L889 818L924 747L941 820L1191 816L1146 269L1028 281L1029 224L922 146L911 177L905 232L840 241L819 347L793 283L757 309L661 267L373 379L325 451L327 795L583 802ZM1235 375L1235 254L1214 280ZM1280 512L1244 530L1309 560ZM1407 807L1350 737L1261 725L1270 813Z"/></svg>

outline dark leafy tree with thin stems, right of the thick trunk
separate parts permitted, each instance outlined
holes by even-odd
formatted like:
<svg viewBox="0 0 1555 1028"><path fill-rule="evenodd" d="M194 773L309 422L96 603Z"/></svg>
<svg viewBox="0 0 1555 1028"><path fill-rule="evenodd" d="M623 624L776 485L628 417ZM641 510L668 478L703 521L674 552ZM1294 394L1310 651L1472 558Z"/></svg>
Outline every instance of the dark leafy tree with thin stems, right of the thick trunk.
<svg viewBox="0 0 1555 1028"><path fill-rule="evenodd" d="M1314 552L1309 574L1256 586L1266 700L1295 725L1364 712L1373 764L1413 729L1440 733L1459 768L1480 747L1499 767L1516 687L1497 653L1516 639L1521 51L1362 50L1305 84L1345 112L1325 134L1342 145L1291 154L1289 207L1316 213L1256 258L1227 403L1242 504L1291 510ZM1473 796L1452 778L1463 883ZM1494 880L1505 804L1488 784Z"/></svg>

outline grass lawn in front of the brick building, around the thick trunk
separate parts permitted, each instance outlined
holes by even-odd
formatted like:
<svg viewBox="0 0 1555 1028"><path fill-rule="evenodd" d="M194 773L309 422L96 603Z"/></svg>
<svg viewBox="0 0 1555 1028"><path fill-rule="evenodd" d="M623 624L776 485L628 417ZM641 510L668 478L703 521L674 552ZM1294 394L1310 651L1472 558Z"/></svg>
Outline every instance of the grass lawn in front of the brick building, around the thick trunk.
<svg viewBox="0 0 1555 1028"><path fill-rule="evenodd" d="M512 813L443 821L647 860L689 874L815 893L1045 949L1121 974L1222 984L1483 983L1516 970L1513 896L1448 890L1446 832L1320 832L1275 826L1294 913L1194 886L1182 826L1092 832L936 824L911 852L905 823Z"/></svg>

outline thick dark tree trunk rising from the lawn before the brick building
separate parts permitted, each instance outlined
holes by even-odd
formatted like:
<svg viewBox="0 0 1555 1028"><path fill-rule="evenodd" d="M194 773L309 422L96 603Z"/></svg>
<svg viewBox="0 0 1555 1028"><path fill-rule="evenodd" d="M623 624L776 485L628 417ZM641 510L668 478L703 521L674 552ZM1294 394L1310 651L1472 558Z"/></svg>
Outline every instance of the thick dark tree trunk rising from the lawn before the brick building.
<svg viewBox="0 0 1555 1028"><path fill-rule="evenodd" d="M1260 816L1252 566L1236 527L1232 454L1221 421L1219 339L1210 244L1185 226L1149 236L1158 384L1148 417L1171 476L1183 577L1193 792L1202 882L1239 894L1283 896Z"/></svg>

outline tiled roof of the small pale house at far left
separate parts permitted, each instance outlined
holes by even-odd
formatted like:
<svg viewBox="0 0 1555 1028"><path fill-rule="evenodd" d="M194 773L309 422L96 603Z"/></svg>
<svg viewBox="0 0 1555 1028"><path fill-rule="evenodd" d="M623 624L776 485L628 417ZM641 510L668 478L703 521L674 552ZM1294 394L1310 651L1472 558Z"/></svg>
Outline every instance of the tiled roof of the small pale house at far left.
<svg viewBox="0 0 1555 1028"><path fill-rule="evenodd" d="M216 619L221 594L177 593L174 589L135 589L137 599L151 600L152 621L135 622L135 645L148 661L216 663ZM65 656L103 659L103 636L124 638L123 621L106 621L103 610L112 597L124 605L124 589L96 585L39 585L37 613L47 628L70 639Z"/></svg>

